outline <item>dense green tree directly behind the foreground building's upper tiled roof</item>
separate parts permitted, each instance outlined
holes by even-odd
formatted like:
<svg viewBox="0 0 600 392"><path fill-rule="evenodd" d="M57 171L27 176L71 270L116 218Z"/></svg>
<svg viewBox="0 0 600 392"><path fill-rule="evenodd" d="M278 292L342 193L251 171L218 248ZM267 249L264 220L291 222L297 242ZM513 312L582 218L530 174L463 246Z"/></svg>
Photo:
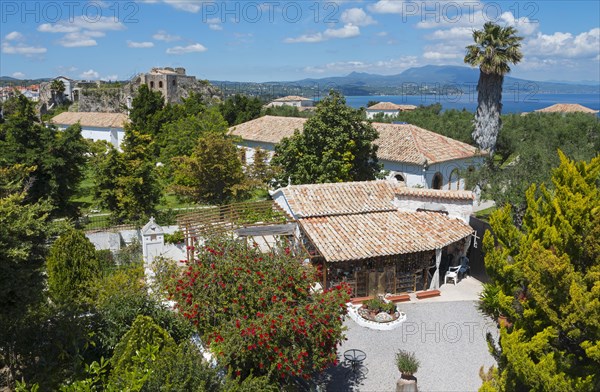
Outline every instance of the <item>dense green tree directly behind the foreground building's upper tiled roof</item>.
<svg viewBox="0 0 600 392"><path fill-rule="evenodd" d="M337 92L317 104L304 130L275 146L271 163L279 166L279 182L311 184L373 180L381 171L377 160L378 134L363 120L361 110L346 105Z"/></svg>

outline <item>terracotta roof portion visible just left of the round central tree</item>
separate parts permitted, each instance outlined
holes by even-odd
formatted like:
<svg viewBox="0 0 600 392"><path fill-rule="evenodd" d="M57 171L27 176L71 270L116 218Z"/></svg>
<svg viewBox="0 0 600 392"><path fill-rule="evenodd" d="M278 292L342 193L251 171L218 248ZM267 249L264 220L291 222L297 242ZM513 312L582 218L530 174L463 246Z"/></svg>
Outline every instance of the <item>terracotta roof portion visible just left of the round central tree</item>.
<svg viewBox="0 0 600 392"><path fill-rule="evenodd" d="M305 118L263 116L229 128L232 135L244 140L276 144L304 129Z"/></svg>

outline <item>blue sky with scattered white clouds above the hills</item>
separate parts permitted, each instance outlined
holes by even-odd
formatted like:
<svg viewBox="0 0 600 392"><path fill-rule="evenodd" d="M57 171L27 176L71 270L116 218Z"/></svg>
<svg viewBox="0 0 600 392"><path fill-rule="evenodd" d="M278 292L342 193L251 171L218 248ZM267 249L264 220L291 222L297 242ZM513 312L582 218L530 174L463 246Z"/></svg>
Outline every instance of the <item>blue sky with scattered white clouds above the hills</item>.
<svg viewBox="0 0 600 392"><path fill-rule="evenodd" d="M0 75L127 79L182 66L202 79L297 80L462 65L485 21L515 26L512 76L600 80L600 2L0 2Z"/></svg>

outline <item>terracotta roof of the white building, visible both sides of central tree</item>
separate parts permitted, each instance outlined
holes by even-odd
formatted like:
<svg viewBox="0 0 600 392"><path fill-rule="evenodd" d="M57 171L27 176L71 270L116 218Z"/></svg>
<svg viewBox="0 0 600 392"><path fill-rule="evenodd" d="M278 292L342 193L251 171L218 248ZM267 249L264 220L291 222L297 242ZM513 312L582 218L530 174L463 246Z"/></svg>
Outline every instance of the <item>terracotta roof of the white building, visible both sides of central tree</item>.
<svg viewBox="0 0 600 392"><path fill-rule="evenodd" d="M279 143L290 137L294 130L302 130L305 118L264 116L229 128L231 134L244 140ZM379 132L375 144L377 157L387 161L423 165L471 158L481 152L466 143L419 128L412 124L373 123Z"/></svg>

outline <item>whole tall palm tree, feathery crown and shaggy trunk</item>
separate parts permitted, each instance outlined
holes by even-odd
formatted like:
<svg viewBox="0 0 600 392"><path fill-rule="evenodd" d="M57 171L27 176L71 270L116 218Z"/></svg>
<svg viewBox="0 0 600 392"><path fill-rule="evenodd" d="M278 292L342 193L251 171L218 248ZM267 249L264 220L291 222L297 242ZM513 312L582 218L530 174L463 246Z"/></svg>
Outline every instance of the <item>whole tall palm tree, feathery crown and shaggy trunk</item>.
<svg viewBox="0 0 600 392"><path fill-rule="evenodd" d="M473 140L490 155L496 149L496 139L502 126L502 82L510 72L509 63L523 58L521 41L514 27L501 27L487 22L483 30L473 31L474 45L467 46L465 63L479 66L477 83L477 113Z"/></svg>

